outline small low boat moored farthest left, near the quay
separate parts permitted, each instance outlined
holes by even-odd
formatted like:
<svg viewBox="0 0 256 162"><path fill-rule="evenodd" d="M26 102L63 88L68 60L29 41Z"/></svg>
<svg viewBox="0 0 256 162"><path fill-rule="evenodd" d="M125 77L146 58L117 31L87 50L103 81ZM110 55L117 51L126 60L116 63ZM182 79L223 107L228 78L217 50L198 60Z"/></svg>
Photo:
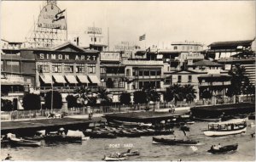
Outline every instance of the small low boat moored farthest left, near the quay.
<svg viewBox="0 0 256 162"><path fill-rule="evenodd" d="M8 133L7 137L9 139L10 144L15 146L27 146L27 147L38 147L41 146L41 142L26 140L22 138L17 138L15 134Z"/></svg>

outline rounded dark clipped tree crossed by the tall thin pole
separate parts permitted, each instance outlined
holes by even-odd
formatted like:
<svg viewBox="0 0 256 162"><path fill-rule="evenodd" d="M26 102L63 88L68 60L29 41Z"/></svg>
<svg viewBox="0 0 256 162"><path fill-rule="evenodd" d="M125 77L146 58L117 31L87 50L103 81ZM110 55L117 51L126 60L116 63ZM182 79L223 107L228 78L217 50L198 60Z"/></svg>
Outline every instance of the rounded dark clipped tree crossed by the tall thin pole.
<svg viewBox="0 0 256 162"><path fill-rule="evenodd" d="M53 91L53 93L51 91L46 93L44 97L45 107L47 109L51 109L52 98L53 98L52 108L61 109L63 104L62 97L61 97L61 93L57 91Z"/></svg>

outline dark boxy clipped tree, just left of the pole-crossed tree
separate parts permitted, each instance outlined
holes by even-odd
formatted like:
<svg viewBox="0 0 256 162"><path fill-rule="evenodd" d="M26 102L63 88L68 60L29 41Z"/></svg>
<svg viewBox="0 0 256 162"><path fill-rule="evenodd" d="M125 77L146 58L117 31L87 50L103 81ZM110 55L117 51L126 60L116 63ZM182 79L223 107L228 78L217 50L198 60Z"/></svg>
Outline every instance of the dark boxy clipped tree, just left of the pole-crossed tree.
<svg viewBox="0 0 256 162"><path fill-rule="evenodd" d="M41 98L38 94L27 93L23 98L24 109L41 109Z"/></svg>

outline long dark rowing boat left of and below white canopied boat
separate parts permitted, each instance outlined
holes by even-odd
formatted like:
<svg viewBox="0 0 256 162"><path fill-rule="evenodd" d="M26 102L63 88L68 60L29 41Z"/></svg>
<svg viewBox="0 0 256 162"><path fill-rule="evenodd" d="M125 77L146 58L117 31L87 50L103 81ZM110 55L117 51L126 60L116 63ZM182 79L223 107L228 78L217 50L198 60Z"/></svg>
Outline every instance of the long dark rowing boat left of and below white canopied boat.
<svg viewBox="0 0 256 162"><path fill-rule="evenodd" d="M166 139L163 137L153 137L153 143L161 143L167 145L196 145L199 142L195 140Z"/></svg>

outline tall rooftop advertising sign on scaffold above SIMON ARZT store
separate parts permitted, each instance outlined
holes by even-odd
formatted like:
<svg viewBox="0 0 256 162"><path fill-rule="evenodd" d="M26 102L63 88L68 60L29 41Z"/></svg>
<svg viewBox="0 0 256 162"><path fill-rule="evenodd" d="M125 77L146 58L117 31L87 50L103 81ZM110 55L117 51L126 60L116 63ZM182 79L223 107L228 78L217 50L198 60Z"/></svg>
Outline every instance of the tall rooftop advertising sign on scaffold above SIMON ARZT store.
<svg viewBox="0 0 256 162"><path fill-rule="evenodd" d="M26 38L29 47L54 47L67 42L67 14L56 0L47 0L32 31Z"/></svg>

